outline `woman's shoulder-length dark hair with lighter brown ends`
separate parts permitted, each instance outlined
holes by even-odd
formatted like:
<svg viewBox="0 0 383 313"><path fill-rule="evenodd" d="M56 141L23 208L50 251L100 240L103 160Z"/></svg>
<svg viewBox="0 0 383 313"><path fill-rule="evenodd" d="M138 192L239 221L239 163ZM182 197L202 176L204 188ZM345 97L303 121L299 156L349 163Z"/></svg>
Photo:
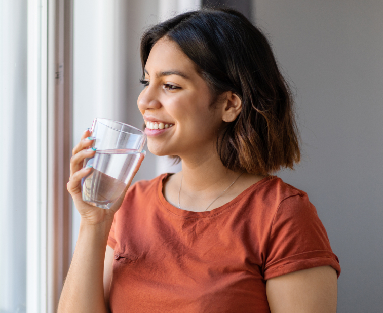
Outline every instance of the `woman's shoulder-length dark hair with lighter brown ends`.
<svg viewBox="0 0 383 313"><path fill-rule="evenodd" d="M293 169L300 161L294 100L265 35L233 9L183 13L145 31L142 69L151 48L163 37L196 64L210 88L212 106L227 91L242 100L240 114L218 136L223 165L261 175Z"/></svg>

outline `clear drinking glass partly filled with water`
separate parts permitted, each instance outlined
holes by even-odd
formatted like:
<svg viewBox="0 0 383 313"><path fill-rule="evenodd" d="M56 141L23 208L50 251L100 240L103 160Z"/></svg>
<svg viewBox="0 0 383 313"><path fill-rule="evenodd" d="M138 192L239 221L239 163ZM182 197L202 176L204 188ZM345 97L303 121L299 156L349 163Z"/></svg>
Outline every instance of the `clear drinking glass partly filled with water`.
<svg viewBox="0 0 383 313"><path fill-rule="evenodd" d="M92 165L90 174L81 181L83 201L96 207L110 209L125 190L137 166L146 134L128 124L94 119L91 135L97 148L93 158L84 160L83 167Z"/></svg>

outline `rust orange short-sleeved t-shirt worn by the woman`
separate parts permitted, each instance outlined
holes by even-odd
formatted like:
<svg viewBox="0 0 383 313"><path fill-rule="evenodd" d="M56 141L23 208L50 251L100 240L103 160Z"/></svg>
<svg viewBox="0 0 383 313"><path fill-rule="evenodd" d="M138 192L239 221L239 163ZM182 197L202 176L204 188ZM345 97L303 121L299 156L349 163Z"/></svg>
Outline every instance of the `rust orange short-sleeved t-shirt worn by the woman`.
<svg viewBox="0 0 383 313"><path fill-rule="evenodd" d="M266 280L330 265L325 228L305 192L276 176L208 212L168 203L139 181L114 216L109 304L119 312L270 312Z"/></svg>

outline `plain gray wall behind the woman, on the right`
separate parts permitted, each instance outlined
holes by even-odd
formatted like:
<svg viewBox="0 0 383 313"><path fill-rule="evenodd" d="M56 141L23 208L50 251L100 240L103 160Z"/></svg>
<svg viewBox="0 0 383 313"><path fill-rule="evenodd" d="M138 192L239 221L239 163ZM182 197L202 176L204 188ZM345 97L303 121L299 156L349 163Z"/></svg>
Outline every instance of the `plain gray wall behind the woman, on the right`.
<svg viewBox="0 0 383 313"><path fill-rule="evenodd" d="M383 2L257 0L297 91L309 194L341 265L338 312L383 311Z"/></svg>

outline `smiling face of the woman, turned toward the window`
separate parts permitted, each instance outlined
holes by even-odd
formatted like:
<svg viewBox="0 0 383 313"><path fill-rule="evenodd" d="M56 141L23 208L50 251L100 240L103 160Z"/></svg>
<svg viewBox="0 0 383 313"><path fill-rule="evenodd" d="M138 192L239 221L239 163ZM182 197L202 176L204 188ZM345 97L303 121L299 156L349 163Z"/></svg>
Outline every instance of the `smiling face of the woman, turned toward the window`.
<svg viewBox="0 0 383 313"><path fill-rule="evenodd" d="M217 130L224 122L221 110L210 108L209 88L193 61L176 43L161 39L152 47L144 71L145 87L137 104L149 150L181 158L214 151Z"/></svg>

